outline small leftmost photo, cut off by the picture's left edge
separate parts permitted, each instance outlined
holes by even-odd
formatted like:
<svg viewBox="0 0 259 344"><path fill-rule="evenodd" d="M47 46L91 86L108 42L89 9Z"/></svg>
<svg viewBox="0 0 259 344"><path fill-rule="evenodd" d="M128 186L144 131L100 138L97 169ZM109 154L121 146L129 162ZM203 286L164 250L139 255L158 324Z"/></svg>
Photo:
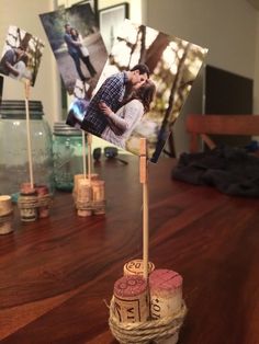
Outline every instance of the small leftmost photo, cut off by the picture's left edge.
<svg viewBox="0 0 259 344"><path fill-rule="evenodd" d="M33 87L41 65L44 43L16 26L9 26L0 60L0 73Z"/></svg>

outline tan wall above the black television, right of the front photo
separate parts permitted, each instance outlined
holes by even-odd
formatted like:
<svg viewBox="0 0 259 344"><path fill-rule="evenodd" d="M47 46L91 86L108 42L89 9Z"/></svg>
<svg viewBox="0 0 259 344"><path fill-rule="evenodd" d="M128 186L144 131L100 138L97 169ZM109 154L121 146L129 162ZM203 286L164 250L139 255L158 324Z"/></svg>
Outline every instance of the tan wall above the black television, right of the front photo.
<svg viewBox="0 0 259 344"><path fill-rule="evenodd" d="M245 0L146 1L147 25L207 47L206 62L210 65L256 79L255 110L259 113L259 24L255 8ZM191 91L173 129L178 154L188 150L184 116L196 110L190 104L192 95Z"/></svg>

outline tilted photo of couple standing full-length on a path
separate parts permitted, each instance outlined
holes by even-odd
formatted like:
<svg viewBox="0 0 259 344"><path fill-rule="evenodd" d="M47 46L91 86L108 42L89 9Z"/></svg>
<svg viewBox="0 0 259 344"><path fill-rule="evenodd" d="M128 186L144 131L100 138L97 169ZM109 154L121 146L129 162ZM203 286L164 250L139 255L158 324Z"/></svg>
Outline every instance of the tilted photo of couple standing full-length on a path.
<svg viewBox="0 0 259 344"><path fill-rule="evenodd" d="M91 92L108 59L91 5L61 8L40 18L67 92L74 94L78 79Z"/></svg>

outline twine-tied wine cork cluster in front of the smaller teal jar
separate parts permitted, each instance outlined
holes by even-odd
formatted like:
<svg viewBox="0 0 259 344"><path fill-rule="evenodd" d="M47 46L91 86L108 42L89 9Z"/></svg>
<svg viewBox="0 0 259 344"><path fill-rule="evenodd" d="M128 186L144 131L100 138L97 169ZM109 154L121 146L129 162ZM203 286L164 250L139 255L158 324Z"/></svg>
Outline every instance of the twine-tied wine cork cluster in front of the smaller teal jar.
<svg viewBox="0 0 259 344"><path fill-rule="evenodd" d="M74 177L74 199L78 216L105 214L105 185L98 174L85 177L77 174Z"/></svg>

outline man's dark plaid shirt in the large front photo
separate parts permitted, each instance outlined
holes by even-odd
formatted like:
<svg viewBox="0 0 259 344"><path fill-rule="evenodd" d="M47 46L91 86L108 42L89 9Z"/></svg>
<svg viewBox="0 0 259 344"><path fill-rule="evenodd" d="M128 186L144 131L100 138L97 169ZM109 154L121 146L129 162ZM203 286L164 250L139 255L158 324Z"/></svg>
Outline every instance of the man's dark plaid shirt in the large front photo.
<svg viewBox="0 0 259 344"><path fill-rule="evenodd" d="M104 102L113 112L116 112L123 100L127 81L126 73L120 72L109 77L103 82L87 108L81 124L83 130L101 136L108 126L108 119L99 108L99 103Z"/></svg>

